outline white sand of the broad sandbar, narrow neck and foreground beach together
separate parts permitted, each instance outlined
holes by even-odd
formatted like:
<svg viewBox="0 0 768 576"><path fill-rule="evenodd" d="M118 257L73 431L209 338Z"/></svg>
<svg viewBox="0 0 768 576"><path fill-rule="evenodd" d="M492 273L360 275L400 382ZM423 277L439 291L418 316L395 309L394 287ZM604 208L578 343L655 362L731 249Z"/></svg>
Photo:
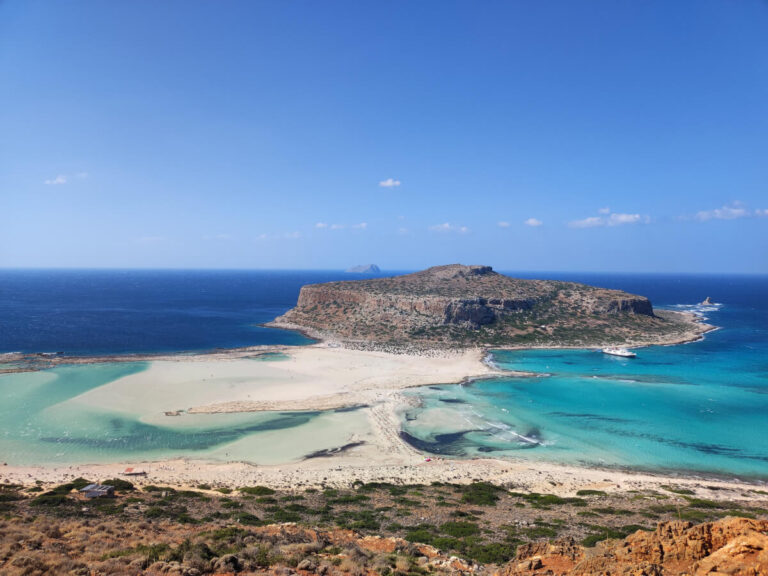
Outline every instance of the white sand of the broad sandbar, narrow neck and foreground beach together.
<svg viewBox="0 0 768 576"><path fill-rule="evenodd" d="M155 361L144 372L126 376L69 400L91 407L140 414L146 421L182 426L183 419L206 413L261 410L313 410L364 404L363 410L330 413L306 426L246 437L217 449L225 461L172 460L58 467L0 467L0 482L57 483L83 476L98 480L118 475L126 466L148 471L138 483L194 486L199 483L283 489L350 486L356 480L402 483L492 481L521 490L573 495L576 490L658 489L677 484L709 498L759 499L761 488L738 481L664 477L599 470L546 462L509 460L425 461L399 437L400 390L409 386L455 383L498 374L482 362L482 351L444 357L394 355L315 345L288 349L284 361L253 359ZM509 375L508 372L504 374ZM194 416L165 416L189 410ZM246 462L254 442L267 445L267 465ZM334 456L300 460L315 450L362 442ZM230 460L230 461L226 461ZM283 463L280 463L283 462ZM708 486L718 488L712 490Z"/></svg>

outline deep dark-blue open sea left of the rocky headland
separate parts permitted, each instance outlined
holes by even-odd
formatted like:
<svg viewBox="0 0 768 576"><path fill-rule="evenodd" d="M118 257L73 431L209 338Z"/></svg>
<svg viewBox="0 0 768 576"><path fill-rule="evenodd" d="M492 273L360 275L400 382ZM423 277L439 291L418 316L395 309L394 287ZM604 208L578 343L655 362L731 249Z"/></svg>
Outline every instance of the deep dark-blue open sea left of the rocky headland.
<svg viewBox="0 0 768 576"><path fill-rule="evenodd" d="M260 327L344 272L0 270L0 352L107 355L306 344Z"/></svg>

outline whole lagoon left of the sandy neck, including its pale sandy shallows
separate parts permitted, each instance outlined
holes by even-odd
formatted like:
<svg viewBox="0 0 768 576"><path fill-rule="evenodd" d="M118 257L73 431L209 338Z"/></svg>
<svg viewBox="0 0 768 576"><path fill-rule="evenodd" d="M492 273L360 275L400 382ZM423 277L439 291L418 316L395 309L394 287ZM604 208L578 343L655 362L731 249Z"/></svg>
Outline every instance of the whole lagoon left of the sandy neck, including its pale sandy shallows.
<svg viewBox="0 0 768 576"><path fill-rule="evenodd" d="M270 355L261 361L280 360ZM187 457L279 464L340 446L350 429L366 427L360 411L161 415L159 424L145 414L78 402L147 366L80 364L0 375L0 461L64 465Z"/></svg>

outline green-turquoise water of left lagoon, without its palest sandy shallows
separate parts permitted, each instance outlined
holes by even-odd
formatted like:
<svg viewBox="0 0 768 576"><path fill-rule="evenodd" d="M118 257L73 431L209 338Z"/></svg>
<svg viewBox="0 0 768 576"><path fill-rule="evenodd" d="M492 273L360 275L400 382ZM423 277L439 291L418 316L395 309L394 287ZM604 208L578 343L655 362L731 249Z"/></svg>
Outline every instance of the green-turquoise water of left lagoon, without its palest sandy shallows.
<svg viewBox="0 0 768 576"><path fill-rule="evenodd" d="M0 460L18 465L215 456L243 438L302 426L319 414L206 414L171 418L167 426L157 426L137 415L68 402L146 366L90 364L0 375ZM253 451L254 460L263 456L258 452Z"/></svg>

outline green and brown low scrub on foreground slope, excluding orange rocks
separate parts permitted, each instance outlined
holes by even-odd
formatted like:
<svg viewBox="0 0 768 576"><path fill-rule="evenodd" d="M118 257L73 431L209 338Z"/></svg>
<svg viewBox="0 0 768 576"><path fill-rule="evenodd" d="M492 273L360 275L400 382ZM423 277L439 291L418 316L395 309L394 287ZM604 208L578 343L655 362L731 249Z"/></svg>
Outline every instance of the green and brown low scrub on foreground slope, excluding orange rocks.
<svg viewBox="0 0 768 576"><path fill-rule="evenodd" d="M469 564L502 564L520 545L540 540L569 537L593 546L662 520L768 517L768 498L745 508L666 487L663 493L582 490L562 497L484 482L356 483L301 493L102 482L118 488L115 498L84 500L77 492L89 483L83 478L46 488L0 487L0 573L176 573L178 566L179 574L208 574L304 566L320 574L415 576L426 573L423 545ZM393 536L401 544L377 548L371 544L377 541L360 539L365 536Z"/></svg>

